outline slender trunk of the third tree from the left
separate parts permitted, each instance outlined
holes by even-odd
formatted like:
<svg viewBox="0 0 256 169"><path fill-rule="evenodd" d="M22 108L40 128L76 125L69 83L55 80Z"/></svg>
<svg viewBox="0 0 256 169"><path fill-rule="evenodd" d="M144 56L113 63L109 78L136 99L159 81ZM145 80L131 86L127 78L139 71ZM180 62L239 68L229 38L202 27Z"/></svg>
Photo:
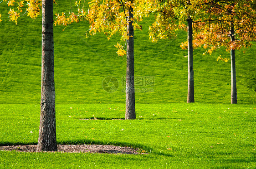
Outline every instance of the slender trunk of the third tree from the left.
<svg viewBox="0 0 256 169"><path fill-rule="evenodd" d="M193 28L188 17L188 98L187 103L194 103L194 68L193 68Z"/></svg>

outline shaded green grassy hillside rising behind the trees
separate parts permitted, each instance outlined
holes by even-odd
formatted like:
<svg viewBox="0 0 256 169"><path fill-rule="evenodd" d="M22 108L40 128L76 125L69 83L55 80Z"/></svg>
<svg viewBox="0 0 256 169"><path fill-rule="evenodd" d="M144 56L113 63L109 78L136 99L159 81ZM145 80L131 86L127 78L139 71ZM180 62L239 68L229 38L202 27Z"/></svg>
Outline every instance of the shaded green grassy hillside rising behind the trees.
<svg viewBox="0 0 256 169"><path fill-rule="evenodd" d="M41 18L21 17L18 24L9 22L9 8L0 5L0 104L38 104L41 97ZM55 13L69 10L69 1L59 2ZM137 103L186 102L187 51L179 45L186 33L176 39L151 43L148 25L134 35L135 76L138 88ZM125 103L123 89L126 58L116 54L116 36L107 40L97 34L85 38L88 23L82 22L55 27L55 83L57 104ZM203 49L194 51L195 101L201 103L230 103L230 62L217 62L221 56L230 58L224 49L203 56ZM256 46L246 53L236 51L238 103L256 104ZM113 76L119 87L106 92L102 80ZM154 83L141 84L139 79ZM146 92L145 92L146 91Z"/></svg>

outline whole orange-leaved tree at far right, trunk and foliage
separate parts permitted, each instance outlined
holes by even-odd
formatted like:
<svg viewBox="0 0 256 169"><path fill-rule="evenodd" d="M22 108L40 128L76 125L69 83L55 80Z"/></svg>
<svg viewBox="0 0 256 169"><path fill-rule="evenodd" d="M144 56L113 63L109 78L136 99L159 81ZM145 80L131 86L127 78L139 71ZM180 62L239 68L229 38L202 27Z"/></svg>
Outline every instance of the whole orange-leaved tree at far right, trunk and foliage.
<svg viewBox="0 0 256 169"><path fill-rule="evenodd" d="M201 44L208 53L215 48L225 47L230 51L231 59L231 104L237 103L236 89L236 56L235 50L251 46L255 41L256 1L254 0L215 0L208 9L209 22L201 25ZM226 58L217 60L228 61Z"/></svg>

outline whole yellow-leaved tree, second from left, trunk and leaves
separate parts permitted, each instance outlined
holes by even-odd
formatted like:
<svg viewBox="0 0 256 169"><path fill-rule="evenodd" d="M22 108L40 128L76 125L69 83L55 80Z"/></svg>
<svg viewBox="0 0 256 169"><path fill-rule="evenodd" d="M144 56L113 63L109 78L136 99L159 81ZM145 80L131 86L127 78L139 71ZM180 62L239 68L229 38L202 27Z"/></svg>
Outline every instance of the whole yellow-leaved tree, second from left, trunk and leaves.
<svg viewBox="0 0 256 169"><path fill-rule="evenodd" d="M110 39L114 34L120 33L121 40L125 45L117 43L118 55L127 56L126 70L126 112L125 119L135 119L135 89L134 89L134 43L135 29L141 29L138 22L142 20L142 9L145 2L140 0L92 0L89 9L85 10L81 1L76 2L78 13L70 12L69 16L64 13L57 14L55 24L71 24L87 19L90 35L103 32ZM85 12L88 11L88 12ZM126 51L124 48L126 47Z"/></svg>

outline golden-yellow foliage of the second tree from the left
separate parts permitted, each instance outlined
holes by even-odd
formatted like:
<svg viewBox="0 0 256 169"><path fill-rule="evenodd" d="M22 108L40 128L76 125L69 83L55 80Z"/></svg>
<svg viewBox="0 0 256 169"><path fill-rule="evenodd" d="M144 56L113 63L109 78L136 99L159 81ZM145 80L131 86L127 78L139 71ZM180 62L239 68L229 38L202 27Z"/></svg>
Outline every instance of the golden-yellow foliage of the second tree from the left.
<svg viewBox="0 0 256 169"><path fill-rule="evenodd" d="M130 38L127 19L133 22L134 29L142 29L139 22L142 21L143 14L146 14L143 10L146 2L143 0L134 0L133 3L129 0L91 0L88 9L85 9L84 3L85 1L76 1L76 14L73 10L69 14L56 14L55 24L67 26L72 22L88 20L90 28L86 32L87 36L103 32L110 39L114 34L120 34L121 40L125 42ZM128 17L130 7L133 8L133 18ZM118 48L119 56L126 54L125 45L117 43L115 47Z"/></svg>

